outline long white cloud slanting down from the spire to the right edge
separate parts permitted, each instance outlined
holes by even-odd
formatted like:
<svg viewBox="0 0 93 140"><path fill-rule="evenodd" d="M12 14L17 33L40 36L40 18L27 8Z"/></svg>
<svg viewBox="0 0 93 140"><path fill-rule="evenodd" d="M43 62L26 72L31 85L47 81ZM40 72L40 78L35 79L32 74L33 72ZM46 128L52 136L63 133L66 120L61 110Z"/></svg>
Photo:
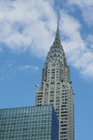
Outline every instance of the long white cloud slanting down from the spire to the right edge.
<svg viewBox="0 0 93 140"><path fill-rule="evenodd" d="M80 35L80 23L65 11L61 11L60 23L62 44L68 62L84 76L93 77L93 51L87 47L88 42L84 41ZM92 36L88 36L87 40L91 39Z"/></svg>

